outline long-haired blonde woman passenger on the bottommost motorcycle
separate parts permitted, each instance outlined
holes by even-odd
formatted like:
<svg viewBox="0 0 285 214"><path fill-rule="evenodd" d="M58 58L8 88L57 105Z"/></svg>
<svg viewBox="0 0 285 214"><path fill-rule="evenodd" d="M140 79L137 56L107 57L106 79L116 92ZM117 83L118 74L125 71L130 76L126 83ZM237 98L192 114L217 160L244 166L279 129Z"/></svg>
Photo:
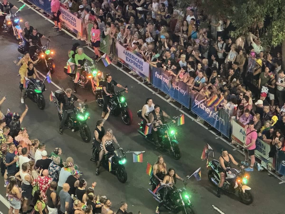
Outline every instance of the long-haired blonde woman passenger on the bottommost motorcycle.
<svg viewBox="0 0 285 214"><path fill-rule="evenodd" d="M166 175L166 163L163 160L163 157L160 155L157 157L156 163L152 166L152 181L156 184L156 186L163 181L164 176ZM155 189L155 187L154 187ZM154 190L152 189L152 190Z"/></svg>

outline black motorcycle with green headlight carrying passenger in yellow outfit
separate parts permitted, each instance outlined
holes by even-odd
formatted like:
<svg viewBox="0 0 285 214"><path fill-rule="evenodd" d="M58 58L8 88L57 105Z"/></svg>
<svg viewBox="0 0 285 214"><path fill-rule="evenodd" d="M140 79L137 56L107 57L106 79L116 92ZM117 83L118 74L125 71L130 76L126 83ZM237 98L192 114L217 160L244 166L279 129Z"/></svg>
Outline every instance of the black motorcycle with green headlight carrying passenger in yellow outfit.
<svg viewBox="0 0 285 214"><path fill-rule="evenodd" d="M23 88L20 87L20 90L23 91ZM42 92L44 92L45 90L46 86L44 85L43 81L32 78L28 82L28 87L25 96L35 102L40 110L43 110L46 106L46 102L44 100Z"/></svg>

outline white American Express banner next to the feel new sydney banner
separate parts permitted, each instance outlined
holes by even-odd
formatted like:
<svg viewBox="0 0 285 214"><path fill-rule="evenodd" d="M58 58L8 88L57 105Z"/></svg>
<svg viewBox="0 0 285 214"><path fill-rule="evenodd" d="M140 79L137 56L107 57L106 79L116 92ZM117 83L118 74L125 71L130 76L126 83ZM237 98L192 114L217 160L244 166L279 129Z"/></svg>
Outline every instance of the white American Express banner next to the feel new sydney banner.
<svg viewBox="0 0 285 214"><path fill-rule="evenodd" d="M119 42L116 43L118 60L125 66L149 81L149 64L144 62L143 56L137 52L126 50Z"/></svg>

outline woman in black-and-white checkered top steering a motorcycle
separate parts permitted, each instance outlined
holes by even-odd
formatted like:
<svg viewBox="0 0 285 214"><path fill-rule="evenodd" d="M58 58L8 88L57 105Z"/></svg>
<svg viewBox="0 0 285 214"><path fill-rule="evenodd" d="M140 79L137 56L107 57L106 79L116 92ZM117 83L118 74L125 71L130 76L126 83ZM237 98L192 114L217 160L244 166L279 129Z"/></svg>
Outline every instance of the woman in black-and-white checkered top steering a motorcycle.
<svg viewBox="0 0 285 214"><path fill-rule="evenodd" d="M113 141L120 147L117 139L113 135L113 131L111 129L107 129L106 134L102 137L102 141L100 144L101 151L99 152L99 160L97 163L96 175L99 175L99 167L101 165L101 160L103 159L104 154L108 154L108 152L115 151Z"/></svg>

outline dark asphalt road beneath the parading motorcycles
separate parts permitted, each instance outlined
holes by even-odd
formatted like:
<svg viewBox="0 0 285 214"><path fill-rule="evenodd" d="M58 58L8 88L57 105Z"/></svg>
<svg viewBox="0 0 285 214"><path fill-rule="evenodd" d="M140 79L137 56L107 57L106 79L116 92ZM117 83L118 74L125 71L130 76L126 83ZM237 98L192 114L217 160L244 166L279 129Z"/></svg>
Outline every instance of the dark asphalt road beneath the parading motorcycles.
<svg viewBox="0 0 285 214"><path fill-rule="evenodd" d="M11 3L15 3L17 7L21 6L15 0L12 0ZM75 40L72 40L63 31L55 32L55 29L51 28L52 24L50 22L27 7L21 12L21 18L24 21L29 21L30 25L36 27L40 33L51 36L50 49L55 51L54 60L56 64L56 72L52 75L52 81L63 88L72 87L73 82L64 74L63 67L68 60L68 50L72 47ZM44 44L45 41L42 41L42 43ZM85 45L85 43L81 43ZM11 36L5 33L0 34L0 97L7 95L7 100L1 106L3 112L8 107L11 111L20 113L25 109L25 105L20 102L20 78L17 76L19 68L13 63L13 60L21 56L17 52L17 46L17 42ZM84 52L88 56L94 56L94 53L86 48ZM248 185L252 188L254 195L253 204L243 205L233 195L223 194L221 198L217 198L215 196L216 187L211 185L207 179L206 163L200 159L203 147L208 143L216 151L216 158L219 157L221 148L227 148L229 153L239 161L243 160L243 156L237 151L232 151L232 148L221 139L215 139L215 135L188 117L185 117L185 124L179 127L177 135L182 158L175 161L171 158L169 152L156 151L154 146L146 142L137 132L139 128L137 123L140 122L136 116L137 110L142 108L147 97L152 97L154 103L159 104L169 115L177 116L180 112L112 65L105 68L102 62L98 62L98 66L103 70L104 74L109 72L118 83L128 86L129 93L126 97L134 118L133 124L126 126L121 118L111 115L104 127L113 129L119 144L125 150L146 151L143 154L143 163L133 163L132 155L127 154L125 167L128 173L128 180L125 184L120 183L114 175L103 168L101 168L99 176L95 175L95 163L89 160L91 158L91 142L84 143L79 133L73 133L70 130L65 130L63 135L59 134L57 111L54 104L49 103L50 91L57 90L53 84L46 83L47 91L44 92L46 108L44 110L39 110L35 103L28 98L25 99L29 110L22 126L28 128L31 139L38 138L47 144L48 153L52 152L55 147L61 147L64 152L62 155L64 159L72 156L75 163L80 166L80 171L84 172L83 177L87 179L88 185L91 185L93 181L97 182L95 193L107 195L111 199L114 211L117 211L120 201L124 200L129 205L129 212L137 213L140 210L143 214L154 213L157 203L147 191L147 188L150 186L148 185L149 177L145 173L146 163L154 163L158 155L163 155L167 166L174 167L180 177L192 174L201 167L201 181L191 178L187 186L197 213L218 213L213 209L212 205L218 207L226 214L284 213L284 199L282 199L284 184L278 184L279 180L268 176L266 171L257 171L255 169L254 172L250 173ZM37 69L46 74L44 68L37 67ZM101 108L97 106L91 91L78 89L76 96L82 100L88 100L91 116L88 124L91 132L93 132L96 120L101 116ZM3 183L3 178L1 178L1 183ZM182 183L178 181L177 186L181 187ZM2 195L5 193L3 185L0 187L0 193ZM0 205L1 209L2 205ZM167 210L161 209L161 213L167 212Z"/></svg>

